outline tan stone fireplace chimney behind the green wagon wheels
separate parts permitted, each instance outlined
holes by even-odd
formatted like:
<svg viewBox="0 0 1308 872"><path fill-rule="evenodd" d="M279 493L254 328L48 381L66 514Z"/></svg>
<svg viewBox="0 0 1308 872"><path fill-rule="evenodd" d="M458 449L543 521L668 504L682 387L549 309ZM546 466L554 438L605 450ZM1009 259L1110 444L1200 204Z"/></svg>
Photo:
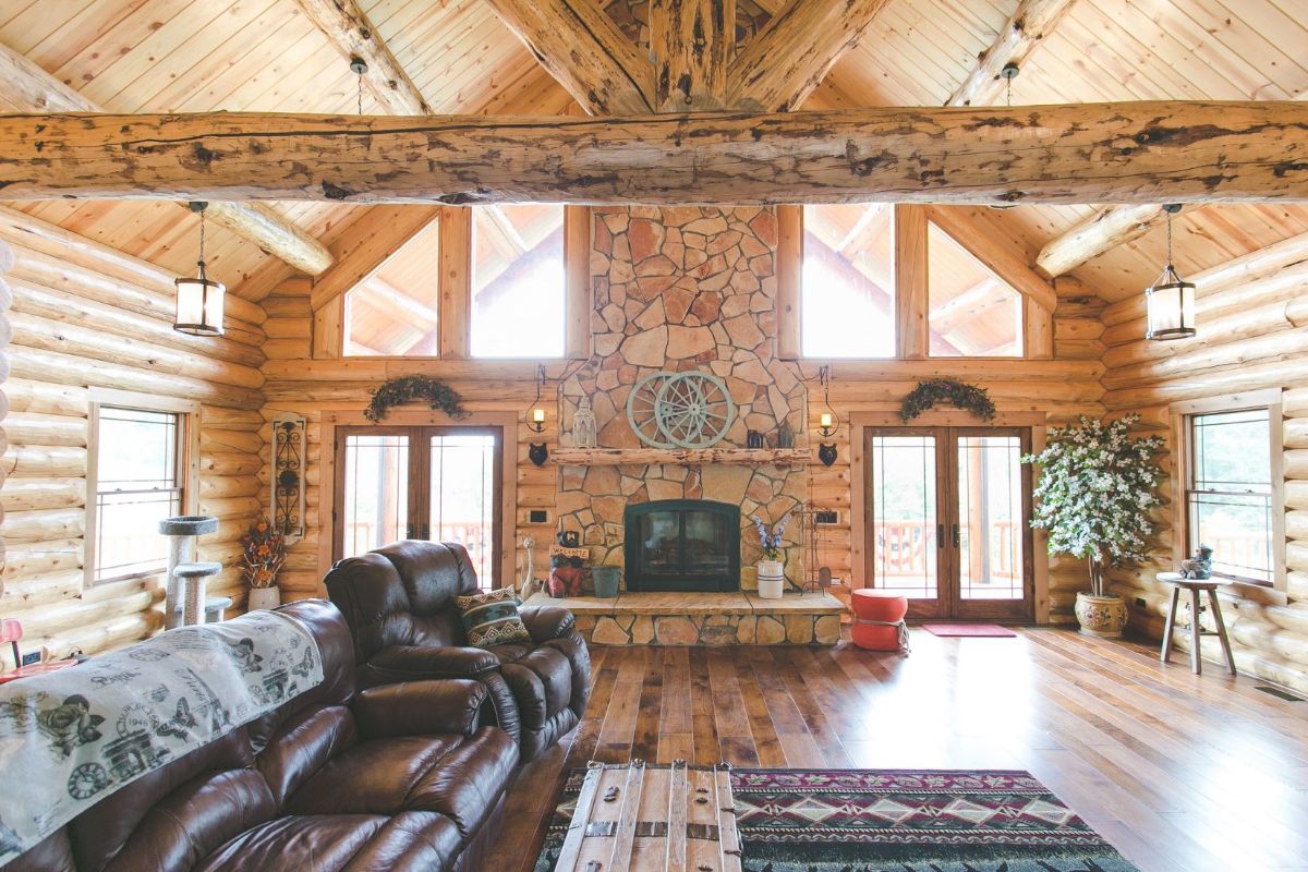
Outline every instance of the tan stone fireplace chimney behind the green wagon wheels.
<svg viewBox="0 0 1308 872"><path fill-rule="evenodd" d="M562 382L560 448L573 447L573 416L583 396L593 404L600 448L642 447L627 400L642 378L657 371L701 371L722 379L736 417L717 448L746 448L749 431L760 434L765 446L781 447L782 429L793 434L794 447L807 448L806 386L798 366L776 354L776 246L773 209L594 209L594 353ZM739 592L757 587L752 567L761 549L751 519L776 523L807 499L802 464L561 464L556 506L560 529L578 531L593 563L621 566L627 591ZM726 556L734 563L718 573L717 560L717 578L704 587L687 586L701 580L693 561L663 578L633 574L640 562L628 536L632 510L647 518L641 507L671 501L705 501L735 512L735 539ZM791 580L803 578L800 531L799 523L786 528Z"/></svg>

